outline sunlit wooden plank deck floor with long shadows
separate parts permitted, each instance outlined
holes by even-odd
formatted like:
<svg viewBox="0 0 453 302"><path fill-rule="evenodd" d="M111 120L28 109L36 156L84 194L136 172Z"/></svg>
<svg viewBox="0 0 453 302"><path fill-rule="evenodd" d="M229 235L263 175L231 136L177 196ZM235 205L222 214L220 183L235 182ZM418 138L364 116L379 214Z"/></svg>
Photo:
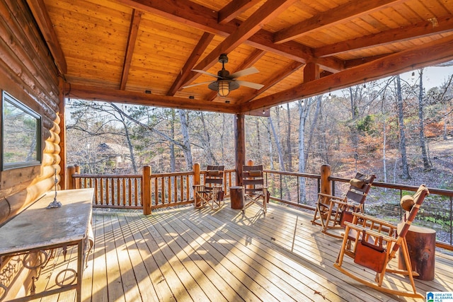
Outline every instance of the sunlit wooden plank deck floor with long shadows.
<svg viewBox="0 0 453 302"><path fill-rule="evenodd" d="M220 211L186 207L150 216L94 210L83 301L414 301L334 269L340 240L310 219L275 204L266 216L255 206L243 215L229 203ZM435 280L417 280L418 291L453 291L452 269L453 257L437 252ZM398 278L388 282L407 286Z"/></svg>

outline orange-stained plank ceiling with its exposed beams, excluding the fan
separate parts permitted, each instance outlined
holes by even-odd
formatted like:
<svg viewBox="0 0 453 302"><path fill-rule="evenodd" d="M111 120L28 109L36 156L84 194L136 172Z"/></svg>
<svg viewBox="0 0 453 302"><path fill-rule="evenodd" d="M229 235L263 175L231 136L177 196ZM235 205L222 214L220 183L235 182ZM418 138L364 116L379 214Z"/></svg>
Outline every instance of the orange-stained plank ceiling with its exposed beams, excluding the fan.
<svg viewBox="0 0 453 302"><path fill-rule="evenodd" d="M453 59L449 0L27 1L70 98L258 114ZM223 53L263 88L211 91Z"/></svg>

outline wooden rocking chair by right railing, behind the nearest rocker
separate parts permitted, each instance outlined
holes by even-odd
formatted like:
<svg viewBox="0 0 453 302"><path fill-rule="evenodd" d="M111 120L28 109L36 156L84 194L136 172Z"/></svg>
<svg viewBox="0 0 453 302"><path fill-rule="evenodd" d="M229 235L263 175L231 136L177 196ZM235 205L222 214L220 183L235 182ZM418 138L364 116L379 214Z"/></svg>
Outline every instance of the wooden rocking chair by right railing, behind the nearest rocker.
<svg viewBox="0 0 453 302"><path fill-rule="evenodd" d="M345 228L344 222L352 221L352 213L363 213L363 204L375 178L375 175L357 173L350 180L345 197L319 193L311 223L321 226L328 236L343 238L332 230Z"/></svg>

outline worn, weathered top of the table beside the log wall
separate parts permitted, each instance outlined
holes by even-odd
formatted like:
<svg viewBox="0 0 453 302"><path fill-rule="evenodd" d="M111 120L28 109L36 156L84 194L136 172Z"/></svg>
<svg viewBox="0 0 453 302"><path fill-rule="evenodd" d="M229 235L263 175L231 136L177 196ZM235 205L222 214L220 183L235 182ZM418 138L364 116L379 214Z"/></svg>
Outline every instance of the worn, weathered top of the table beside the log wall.
<svg viewBox="0 0 453 302"><path fill-rule="evenodd" d="M69 243L86 237L94 189L57 191L62 207L46 209L55 191L47 192L0 228L0 255Z"/></svg>

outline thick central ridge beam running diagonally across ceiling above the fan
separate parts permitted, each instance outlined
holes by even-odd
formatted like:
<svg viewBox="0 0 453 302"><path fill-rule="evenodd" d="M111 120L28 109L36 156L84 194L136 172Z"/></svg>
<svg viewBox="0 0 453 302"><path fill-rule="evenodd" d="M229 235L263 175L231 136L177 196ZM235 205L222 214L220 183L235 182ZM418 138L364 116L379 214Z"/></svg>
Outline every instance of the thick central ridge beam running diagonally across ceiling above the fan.
<svg viewBox="0 0 453 302"><path fill-rule="evenodd" d="M242 24L237 19L226 24L219 24L217 11L212 11L212 9L188 0L179 0L178 7L175 7L171 1L117 0L117 2L208 33L221 35L222 37L227 37L231 33L234 33L239 25ZM316 59L313 56L313 49L300 43L287 42L280 45L274 44L273 33L267 30L259 30L258 33L252 35L244 43L302 63L311 62ZM316 63L323 69L331 72L344 69L343 62L333 57L316 59ZM190 81L186 81L186 83L190 83Z"/></svg>

